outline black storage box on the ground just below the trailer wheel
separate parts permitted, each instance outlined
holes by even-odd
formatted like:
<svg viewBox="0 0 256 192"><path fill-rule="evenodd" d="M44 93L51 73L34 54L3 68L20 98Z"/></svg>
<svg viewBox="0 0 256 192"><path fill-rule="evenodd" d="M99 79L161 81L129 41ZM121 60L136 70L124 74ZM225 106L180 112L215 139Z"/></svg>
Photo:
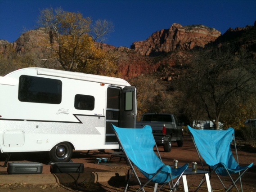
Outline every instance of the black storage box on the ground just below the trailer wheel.
<svg viewBox="0 0 256 192"><path fill-rule="evenodd" d="M83 173L83 163L51 163L51 173Z"/></svg>

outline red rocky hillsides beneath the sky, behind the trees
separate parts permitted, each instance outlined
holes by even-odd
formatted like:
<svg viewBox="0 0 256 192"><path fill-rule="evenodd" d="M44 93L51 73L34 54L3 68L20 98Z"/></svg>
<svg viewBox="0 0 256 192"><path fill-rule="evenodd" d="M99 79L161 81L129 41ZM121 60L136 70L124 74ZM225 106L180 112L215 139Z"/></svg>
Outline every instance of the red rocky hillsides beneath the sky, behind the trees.
<svg viewBox="0 0 256 192"><path fill-rule="evenodd" d="M47 58L47 51L35 48L36 42L50 39L50 31L38 28L23 33L18 40L9 43L0 40L0 53L5 54L7 45L11 45L17 54L31 53L38 60ZM223 35L220 31L203 25L181 26L174 23L169 29L154 32L144 41L137 41L131 48L114 47L101 44L102 49L119 55L118 66L122 77L129 79L141 74L162 71L161 79L171 80L176 76L171 66L182 66L189 62L193 53L189 50L208 45L221 45L236 40L239 46L245 46L256 53L256 24L243 28L229 29ZM41 66L38 66L41 67Z"/></svg>

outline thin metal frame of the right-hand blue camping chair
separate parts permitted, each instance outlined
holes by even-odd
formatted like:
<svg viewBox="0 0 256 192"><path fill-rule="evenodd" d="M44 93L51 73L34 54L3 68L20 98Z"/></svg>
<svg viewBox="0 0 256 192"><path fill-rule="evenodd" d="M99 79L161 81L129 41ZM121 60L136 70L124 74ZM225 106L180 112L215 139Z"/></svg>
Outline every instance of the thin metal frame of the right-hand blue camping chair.
<svg viewBox="0 0 256 192"><path fill-rule="evenodd" d="M191 128L189 125L188 125L188 128L189 128L189 131L190 131L190 129L193 129L193 128ZM229 129L233 129L233 128L229 128ZM234 130L234 129L233 129ZM204 130L200 130L200 131L204 131ZM216 131L222 131L222 130L216 130ZM203 170L206 170L205 169L205 167L204 167L204 165L203 165L203 159L202 159L202 156L200 155L200 152L199 152L199 150L198 150L198 147L197 147L197 145L196 145L196 142L195 142L195 139L194 139L194 137L193 137L193 134L190 132L190 134L191 134L191 137L192 137L192 140L193 140L193 143L194 143L194 145L195 145L195 148L196 148L196 151L197 151L197 153L198 153L198 157L199 157L199 161L200 161L200 163L201 163L201 165L202 165L202 168L203 168ZM237 161L237 164L239 165L239 161L238 161L238 152L237 152L237 147L236 147L236 140L235 140L235 136L234 136L234 134L233 134L233 141L234 141L234 148L235 148L235 154L236 154L236 161ZM231 145L231 143L230 143L230 145ZM229 149L227 149L227 150L229 150ZM207 163L207 162L206 162ZM237 187L237 185L236 185L236 183L238 183L238 181L240 181L240 188L241 188L241 192L243 192L243 185L242 185L242 177L243 177L243 175L247 172L247 170L253 165L253 163L251 163L251 164L249 164L249 165L247 165L247 166L244 166L245 168L243 169L243 170L240 170L240 171L238 171L238 177L237 177L237 179L233 179L232 178L232 174L230 174L229 173L229 168L224 164L224 163L222 163L222 162L219 162L218 164L216 164L216 165L214 165L214 166L210 166L209 164L207 164L208 165L208 170L211 172L210 174L209 174L209 177L210 177L210 179L211 179L211 175L213 174L213 173L216 173L216 175L217 175L217 177L218 177L218 179L220 180L220 182L221 182L221 184L223 185L223 187L224 187L224 189L225 189L225 192L227 192L227 191L230 191L232 188L236 188L237 189L237 191L239 192L239 189L238 189L238 187ZM216 169L218 169L219 167L223 167L225 170L226 170L226 173L228 174L228 176L229 176L229 178L230 178L230 180L232 181L232 184L227 188L226 186L225 186L225 184L223 183L223 181L221 180L221 178L220 178L220 175L221 174L218 174L217 172L216 172ZM243 171L243 172L242 172ZM242 172L242 173L241 173ZM235 173L234 173L235 174ZM206 179L203 177L202 178L202 180L201 180L201 182L200 182L200 184L198 185L198 188L195 190L195 191L197 191L201 186L202 186L202 184L204 183L206 181Z"/></svg>

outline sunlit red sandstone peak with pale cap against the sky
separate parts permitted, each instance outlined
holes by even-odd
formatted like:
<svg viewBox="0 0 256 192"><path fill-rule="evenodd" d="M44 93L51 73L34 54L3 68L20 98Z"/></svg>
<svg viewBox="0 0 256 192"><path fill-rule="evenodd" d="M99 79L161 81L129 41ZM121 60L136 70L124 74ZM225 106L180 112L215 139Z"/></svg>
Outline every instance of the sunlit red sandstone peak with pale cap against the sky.
<svg viewBox="0 0 256 192"><path fill-rule="evenodd" d="M204 47L216 40L220 31L204 25L181 26L174 23L170 29L162 29L152 34L147 40L136 41L131 49L141 55L151 56L174 50L189 50L195 46Z"/></svg>

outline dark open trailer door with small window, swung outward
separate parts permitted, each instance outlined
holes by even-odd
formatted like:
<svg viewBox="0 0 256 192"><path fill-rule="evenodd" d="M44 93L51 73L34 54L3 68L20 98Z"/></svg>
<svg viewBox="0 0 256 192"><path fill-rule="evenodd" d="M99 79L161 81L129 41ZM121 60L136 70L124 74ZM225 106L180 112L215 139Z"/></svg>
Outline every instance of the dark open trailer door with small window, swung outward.
<svg viewBox="0 0 256 192"><path fill-rule="evenodd" d="M121 91L120 127L135 128L137 114L136 94L135 86L124 87Z"/></svg>

